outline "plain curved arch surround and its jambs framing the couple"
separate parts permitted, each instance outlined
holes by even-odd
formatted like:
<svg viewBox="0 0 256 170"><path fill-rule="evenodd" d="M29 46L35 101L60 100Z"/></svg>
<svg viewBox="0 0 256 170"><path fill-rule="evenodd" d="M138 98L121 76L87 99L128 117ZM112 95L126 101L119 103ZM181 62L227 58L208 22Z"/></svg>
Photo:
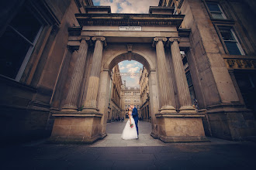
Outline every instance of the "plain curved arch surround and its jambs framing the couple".
<svg viewBox="0 0 256 170"><path fill-rule="evenodd" d="M107 93L110 92L109 86L110 86L110 71L116 64L119 62L122 62L124 60L135 60L139 63L142 63L145 68L147 69L147 72L149 73L149 84L150 84L150 117L152 129L151 134L157 135L156 132L156 126L157 126L157 120L155 117L155 114L157 113L159 109L159 101L158 101L158 92L157 92L157 76L156 76L156 70L155 65L151 61L151 59L148 56L145 56L143 53L134 51L134 52L117 52L115 55L110 56L106 59L106 63L102 66L102 73L100 76L100 83L99 83L99 112L102 113L102 120L101 120L101 133L106 133L106 123L107 123L107 106L108 104L108 95Z"/></svg>

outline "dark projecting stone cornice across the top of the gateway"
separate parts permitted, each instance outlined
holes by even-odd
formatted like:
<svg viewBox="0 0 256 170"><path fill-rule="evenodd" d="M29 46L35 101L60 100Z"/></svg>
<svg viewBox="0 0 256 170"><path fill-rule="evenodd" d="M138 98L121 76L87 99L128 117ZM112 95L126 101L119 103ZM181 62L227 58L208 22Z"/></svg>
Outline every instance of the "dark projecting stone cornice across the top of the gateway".
<svg viewBox="0 0 256 170"><path fill-rule="evenodd" d="M75 14L80 26L176 26L185 15L161 14Z"/></svg>

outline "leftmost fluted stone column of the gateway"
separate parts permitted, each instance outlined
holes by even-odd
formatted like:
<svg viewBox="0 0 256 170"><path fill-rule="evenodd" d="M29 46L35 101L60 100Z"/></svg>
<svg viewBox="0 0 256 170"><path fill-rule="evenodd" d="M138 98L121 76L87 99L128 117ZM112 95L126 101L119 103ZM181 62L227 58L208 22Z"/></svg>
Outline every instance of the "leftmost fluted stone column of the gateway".
<svg viewBox="0 0 256 170"><path fill-rule="evenodd" d="M81 81L83 79L83 73L85 70L85 61L88 52L88 41L90 37L85 37L81 39L81 44L79 46L78 54L74 51L73 55L78 55L74 63L74 71L71 77L71 84L67 92L66 100L64 101L64 107L62 108L63 111L76 111L77 101L78 101L78 94L81 88Z"/></svg>

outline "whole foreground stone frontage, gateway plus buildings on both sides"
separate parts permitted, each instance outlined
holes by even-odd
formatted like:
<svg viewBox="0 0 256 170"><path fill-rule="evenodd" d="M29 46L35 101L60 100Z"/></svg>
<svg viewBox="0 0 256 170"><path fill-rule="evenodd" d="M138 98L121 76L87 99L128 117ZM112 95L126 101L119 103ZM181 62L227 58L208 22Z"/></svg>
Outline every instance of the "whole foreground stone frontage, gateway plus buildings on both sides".
<svg viewBox="0 0 256 170"><path fill-rule="evenodd" d="M2 142L103 139L112 69L131 59L148 73L151 136L250 139L254 7L252 0L160 0L148 14L114 14L90 0L1 2Z"/></svg>

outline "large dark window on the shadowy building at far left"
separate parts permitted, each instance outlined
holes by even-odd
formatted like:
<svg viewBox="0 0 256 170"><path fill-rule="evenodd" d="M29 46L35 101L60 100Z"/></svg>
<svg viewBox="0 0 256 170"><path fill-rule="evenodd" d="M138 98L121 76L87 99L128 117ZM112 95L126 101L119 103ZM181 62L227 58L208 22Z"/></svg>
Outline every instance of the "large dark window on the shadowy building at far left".
<svg viewBox="0 0 256 170"><path fill-rule="evenodd" d="M0 38L0 74L20 80L42 28L29 9L22 7Z"/></svg>

